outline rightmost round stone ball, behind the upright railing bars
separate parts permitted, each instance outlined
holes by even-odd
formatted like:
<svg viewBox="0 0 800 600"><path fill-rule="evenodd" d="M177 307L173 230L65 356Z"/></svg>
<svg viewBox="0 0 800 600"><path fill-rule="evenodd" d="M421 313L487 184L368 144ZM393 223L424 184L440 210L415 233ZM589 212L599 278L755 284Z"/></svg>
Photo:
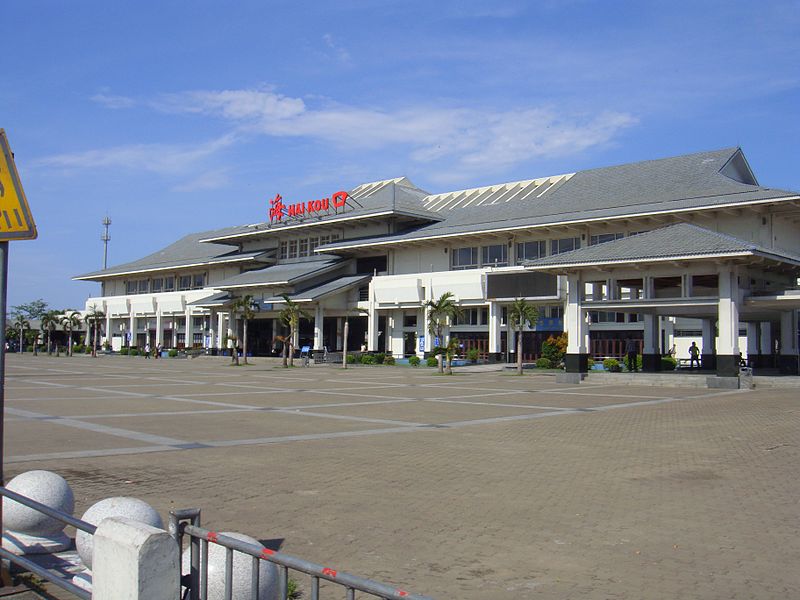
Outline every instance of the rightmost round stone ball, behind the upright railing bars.
<svg viewBox="0 0 800 600"><path fill-rule="evenodd" d="M243 542L255 544L259 548L264 546L249 535L221 531L220 535L227 535ZM225 598L225 553L226 548L212 542L208 543L208 600L223 600ZM200 568L203 568L203 555L200 554ZM189 548L183 551L183 573L187 574L191 568L191 554ZM258 597L251 594L250 584L253 576L253 557L249 554L233 551L233 597L236 600L278 600L278 567L266 560L258 561Z"/></svg>

